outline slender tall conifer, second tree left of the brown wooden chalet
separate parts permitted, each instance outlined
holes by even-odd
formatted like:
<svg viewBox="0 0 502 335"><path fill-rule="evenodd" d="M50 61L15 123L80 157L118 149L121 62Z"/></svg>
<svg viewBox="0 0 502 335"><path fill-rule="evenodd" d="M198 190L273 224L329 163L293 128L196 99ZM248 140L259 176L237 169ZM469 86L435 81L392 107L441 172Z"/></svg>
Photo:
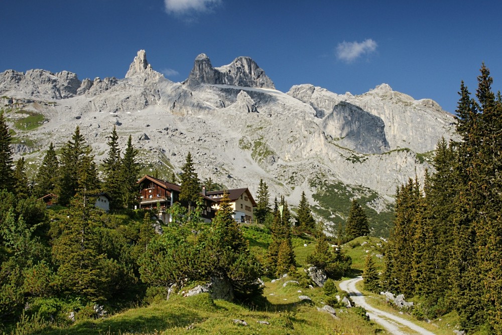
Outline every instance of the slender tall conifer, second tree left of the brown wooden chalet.
<svg viewBox="0 0 502 335"><path fill-rule="evenodd" d="M118 135L115 126L113 126L113 131L108 139L108 156L103 161L103 191L111 197L110 209L115 209L120 203L119 198L121 194L121 181L119 178L121 159L120 149L118 148Z"/></svg>

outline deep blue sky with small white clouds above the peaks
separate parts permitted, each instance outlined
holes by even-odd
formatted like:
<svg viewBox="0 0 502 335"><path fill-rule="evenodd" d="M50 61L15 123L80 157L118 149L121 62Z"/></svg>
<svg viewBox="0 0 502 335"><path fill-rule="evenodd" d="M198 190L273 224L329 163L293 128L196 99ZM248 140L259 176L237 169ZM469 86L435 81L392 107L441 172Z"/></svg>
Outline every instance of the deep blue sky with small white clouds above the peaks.
<svg viewBox="0 0 502 335"><path fill-rule="evenodd" d="M123 78L145 49L182 81L199 53L213 66L250 56L281 91L385 82L453 113L460 80L474 92L483 61L502 89L500 13L498 1L3 0L0 71Z"/></svg>

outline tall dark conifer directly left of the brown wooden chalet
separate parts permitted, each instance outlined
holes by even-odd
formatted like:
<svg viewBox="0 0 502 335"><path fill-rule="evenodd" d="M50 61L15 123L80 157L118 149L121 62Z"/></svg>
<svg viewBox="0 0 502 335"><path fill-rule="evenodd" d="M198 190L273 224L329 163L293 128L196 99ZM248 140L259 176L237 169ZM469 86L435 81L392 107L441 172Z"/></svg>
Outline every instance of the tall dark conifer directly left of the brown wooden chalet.
<svg viewBox="0 0 502 335"><path fill-rule="evenodd" d="M132 209L138 203L140 188L138 178L140 174L140 164L136 160L138 150L133 147L133 138L129 135L124 157L120 161L120 208Z"/></svg>

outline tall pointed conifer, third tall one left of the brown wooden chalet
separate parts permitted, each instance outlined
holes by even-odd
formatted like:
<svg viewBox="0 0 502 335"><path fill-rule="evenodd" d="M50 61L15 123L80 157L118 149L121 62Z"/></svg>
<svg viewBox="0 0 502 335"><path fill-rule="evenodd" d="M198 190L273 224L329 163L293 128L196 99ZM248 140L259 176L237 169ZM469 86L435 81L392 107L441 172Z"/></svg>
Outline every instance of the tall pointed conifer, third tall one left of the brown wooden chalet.
<svg viewBox="0 0 502 335"><path fill-rule="evenodd" d="M75 128L72 140L63 147L61 165L59 168L59 180L56 187L58 203L66 206L76 194L78 188L79 167L88 145L85 138L80 134L80 128Z"/></svg>

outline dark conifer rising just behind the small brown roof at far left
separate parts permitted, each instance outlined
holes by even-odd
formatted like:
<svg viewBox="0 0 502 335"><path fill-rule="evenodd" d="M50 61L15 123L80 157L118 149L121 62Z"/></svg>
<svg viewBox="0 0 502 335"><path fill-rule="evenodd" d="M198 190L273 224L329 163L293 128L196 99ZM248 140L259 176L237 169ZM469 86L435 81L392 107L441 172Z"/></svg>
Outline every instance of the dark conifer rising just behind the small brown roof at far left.
<svg viewBox="0 0 502 335"><path fill-rule="evenodd" d="M35 178L33 195L36 198L43 197L49 193L55 193L58 182L58 170L59 161L54 150L54 145L51 142Z"/></svg>

